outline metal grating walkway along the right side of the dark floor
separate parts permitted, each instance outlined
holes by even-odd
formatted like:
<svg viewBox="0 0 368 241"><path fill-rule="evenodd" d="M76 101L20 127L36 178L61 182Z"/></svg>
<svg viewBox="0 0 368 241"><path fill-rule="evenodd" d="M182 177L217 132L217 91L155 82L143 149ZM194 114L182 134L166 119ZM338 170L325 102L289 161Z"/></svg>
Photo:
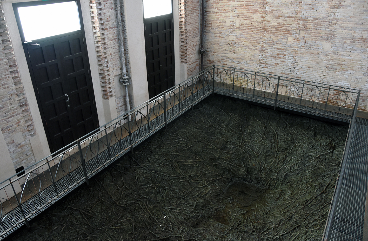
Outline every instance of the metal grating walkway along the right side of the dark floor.
<svg viewBox="0 0 368 241"><path fill-rule="evenodd" d="M367 119L355 120L346 165L340 175L341 187L327 240L363 241L368 185Z"/></svg>

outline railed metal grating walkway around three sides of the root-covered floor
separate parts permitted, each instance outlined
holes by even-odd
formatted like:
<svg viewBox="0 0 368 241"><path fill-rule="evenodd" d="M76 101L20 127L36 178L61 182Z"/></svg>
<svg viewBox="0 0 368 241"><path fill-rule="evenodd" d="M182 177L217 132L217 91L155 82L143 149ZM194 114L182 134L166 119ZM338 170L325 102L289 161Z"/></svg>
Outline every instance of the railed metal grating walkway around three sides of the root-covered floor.
<svg viewBox="0 0 368 241"><path fill-rule="evenodd" d="M58 156L0 184L0 240L211 94L350 124L323 240L368 240L368 119L355 118L360 91L212 66L137 106ZM365 114L365 113L363 113ZM131 120L130 120L131 118ZM351 122L351 120L354 120ZM353 124L352 124L353 123ZM321 237L322 238L322 237Z"/></svg>

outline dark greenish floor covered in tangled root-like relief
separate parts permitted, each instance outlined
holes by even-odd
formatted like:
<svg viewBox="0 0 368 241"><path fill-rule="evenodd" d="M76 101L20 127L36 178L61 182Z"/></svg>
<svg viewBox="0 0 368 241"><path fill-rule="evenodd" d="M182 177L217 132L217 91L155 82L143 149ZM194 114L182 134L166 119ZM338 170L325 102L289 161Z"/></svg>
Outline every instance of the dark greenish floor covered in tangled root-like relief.
<svg viewBox="0 0 368 241"><path fill-rule="evenodd" d="M209 97L13 240L321 240L347 135Z"/></svg>

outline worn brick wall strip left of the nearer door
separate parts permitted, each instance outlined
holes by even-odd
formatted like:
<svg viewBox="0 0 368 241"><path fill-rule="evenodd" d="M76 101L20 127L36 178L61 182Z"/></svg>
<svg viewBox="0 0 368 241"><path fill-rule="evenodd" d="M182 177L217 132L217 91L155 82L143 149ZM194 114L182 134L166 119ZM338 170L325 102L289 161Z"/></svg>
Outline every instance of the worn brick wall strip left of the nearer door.
<svg viewBox="0 0 368 241"><path fill-rule="evenodd" d="M0 40L0 128L14 167L28 167L36 161L29 141L36 133L1 5Z"/></svg>

